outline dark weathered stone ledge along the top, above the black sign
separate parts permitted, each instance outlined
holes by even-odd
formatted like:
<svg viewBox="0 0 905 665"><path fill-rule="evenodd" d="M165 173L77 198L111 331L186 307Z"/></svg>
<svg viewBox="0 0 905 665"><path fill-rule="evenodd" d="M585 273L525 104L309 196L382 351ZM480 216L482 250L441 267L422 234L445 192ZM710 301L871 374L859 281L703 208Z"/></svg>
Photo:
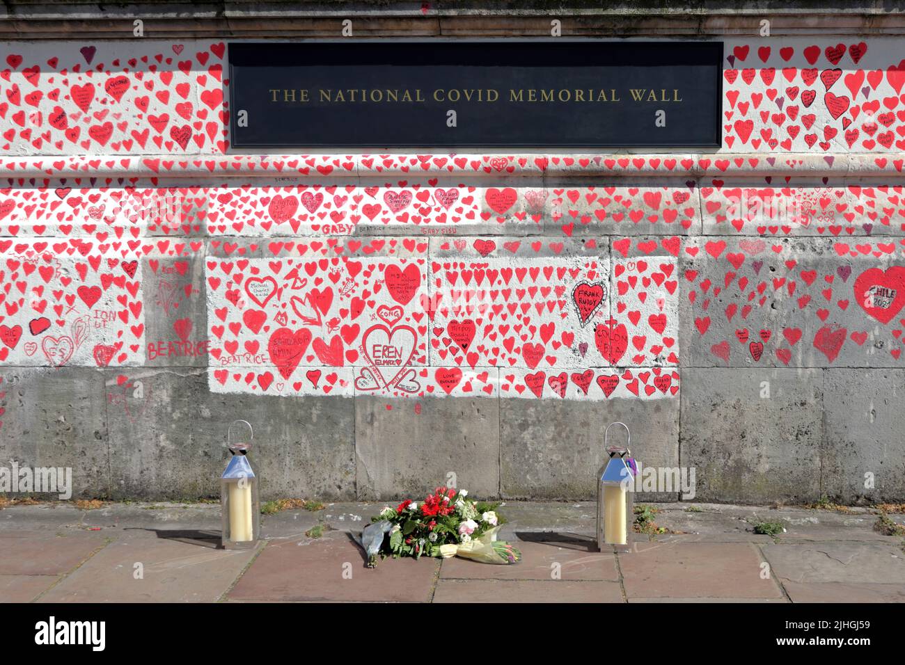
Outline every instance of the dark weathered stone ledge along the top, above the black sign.
<svg viewBox="0 0 905 665"><path fill-rule="evenodd" d="M905 33L905 15L879 0L849 5L818 2L154 2L114 4L9 0L0 9L0 38L89 39L131 34L140 18L157 38L338 37L353 18L357 37L549 36L550 20L564 36L757 35L771 20L773 36Z"/></svg>

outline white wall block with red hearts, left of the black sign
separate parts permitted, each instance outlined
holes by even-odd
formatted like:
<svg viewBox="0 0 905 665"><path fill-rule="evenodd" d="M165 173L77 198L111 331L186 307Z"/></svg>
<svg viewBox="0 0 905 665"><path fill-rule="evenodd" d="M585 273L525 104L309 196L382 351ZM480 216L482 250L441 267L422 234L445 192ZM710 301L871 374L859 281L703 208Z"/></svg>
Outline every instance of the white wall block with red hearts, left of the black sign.
<svg viewBox="0 0 905 665"><path fill-rule="evenodd" d="M24 94L40 89L33 106L49 119L33 136L17 132L18 154L159 156L153 163L166 172L173 166L170 156L224 151L223 123L215 119L224 102L226 61L220 40L176 44L148 39L140 46L134 39L89 45L72 41L52 47L20 42L5 43L2 50L4 61L12 58L21 64L11 82ZM37 76L31 69L35 66ZM69 94L52 95L60 86L54 74L63 70ZM108 73L91 76L95 71ZM148 88L148 82L153 87ZM116 116L93 115L111 108ZM0 127L22 129L9 117Z"/></svg>

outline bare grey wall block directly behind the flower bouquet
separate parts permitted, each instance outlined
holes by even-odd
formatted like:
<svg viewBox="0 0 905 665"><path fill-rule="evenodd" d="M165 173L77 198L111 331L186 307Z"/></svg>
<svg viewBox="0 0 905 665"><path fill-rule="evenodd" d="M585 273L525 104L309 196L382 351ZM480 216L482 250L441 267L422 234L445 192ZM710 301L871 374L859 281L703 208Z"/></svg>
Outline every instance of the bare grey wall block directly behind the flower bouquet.
<svg viewBox="0 0 905 665"><path fill-rule="evenodd" d="M499 400L358 395L355 446L358 499L423 497L451 480L500 494Z"/></svg>

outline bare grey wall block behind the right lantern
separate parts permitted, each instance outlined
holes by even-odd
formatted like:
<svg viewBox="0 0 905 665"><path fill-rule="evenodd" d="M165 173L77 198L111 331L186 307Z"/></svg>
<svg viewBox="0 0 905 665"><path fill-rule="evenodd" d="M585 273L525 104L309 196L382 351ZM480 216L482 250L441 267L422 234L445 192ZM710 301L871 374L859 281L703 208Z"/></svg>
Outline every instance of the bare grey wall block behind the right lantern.
<svg viewBox="0 0 905 665"><path fill-rule="evenodd" d="M622 422L643 467L679 465L679 400L614 398L599 402L500 400L500 492L505 499L596 498L606 459L604 430ZM624 430L610 431L623 445ZM675 500L675 492L639 492L635 501Z"/></svg>

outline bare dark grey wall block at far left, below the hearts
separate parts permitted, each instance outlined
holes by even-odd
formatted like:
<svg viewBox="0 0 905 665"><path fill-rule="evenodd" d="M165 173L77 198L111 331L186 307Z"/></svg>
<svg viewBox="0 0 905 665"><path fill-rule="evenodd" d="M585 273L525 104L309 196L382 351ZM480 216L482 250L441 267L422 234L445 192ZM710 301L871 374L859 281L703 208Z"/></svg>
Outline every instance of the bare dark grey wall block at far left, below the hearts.
<svg viewBox="0 0 905 665"><path fill-rule="evenodd" d="M106 408L96 369L0 369L0 466L68 467L73 497L106 496Z"/></svg>

